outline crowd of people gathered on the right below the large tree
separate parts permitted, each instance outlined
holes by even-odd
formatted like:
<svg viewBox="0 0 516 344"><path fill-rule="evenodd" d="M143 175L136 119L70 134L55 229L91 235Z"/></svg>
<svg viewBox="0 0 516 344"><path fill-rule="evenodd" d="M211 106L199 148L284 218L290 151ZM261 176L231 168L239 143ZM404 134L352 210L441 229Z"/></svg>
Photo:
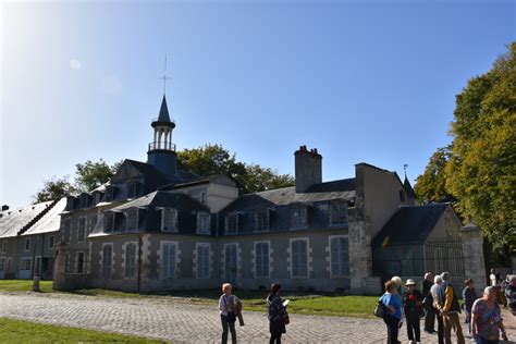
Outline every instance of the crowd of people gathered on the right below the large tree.
<svg viewBox="0 0 516 344"><path fill-rule="evenodd" d="M516 275L507 277L503 292L506 304L516 316ZM433 275L425 274L422 291L416 288L416 282L408 279L402 294L402 280L393 277L385 283L385 293L379 303L385 308L383 321L388 329L388 342L400 343L398 331L406 321L407 336L410 343L420 342L420 319L425 318L425 331L438 333L439 343L452 343L452 331L455 332L457 343L465 343L459 314L466 314L468 334L479 344L499 343L500 335L507 341L507 334L501 317L501 309L496 302L500 299L500 288L491 285L486 287L482 297L478 297L474 281L464 281L463 305L459 305L457 294L452 284L449 272ZM438 331L434 330L435 320Z"/></svg>

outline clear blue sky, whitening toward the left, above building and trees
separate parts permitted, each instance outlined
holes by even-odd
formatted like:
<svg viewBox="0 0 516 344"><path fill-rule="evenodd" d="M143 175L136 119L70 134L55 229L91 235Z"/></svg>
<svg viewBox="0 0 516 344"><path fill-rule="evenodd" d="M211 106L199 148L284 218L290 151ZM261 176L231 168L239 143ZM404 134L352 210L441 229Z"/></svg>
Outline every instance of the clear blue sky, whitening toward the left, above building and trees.
<svg viewBox="0 0 516 344"><path fill-rule="evenodd" d="M323 181L408 179L451 142L455 96L516 37L516 1L0 3L0 202L100 158L146 161L168 57L177 149L220 144Z"/></svg>

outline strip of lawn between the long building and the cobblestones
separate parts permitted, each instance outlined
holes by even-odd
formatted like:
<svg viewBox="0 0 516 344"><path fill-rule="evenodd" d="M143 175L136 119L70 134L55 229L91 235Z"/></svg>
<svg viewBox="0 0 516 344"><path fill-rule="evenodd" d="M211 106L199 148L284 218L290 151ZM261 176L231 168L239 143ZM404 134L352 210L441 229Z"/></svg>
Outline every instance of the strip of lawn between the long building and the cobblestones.
<svg viewBox="0 0 516 344"><path fill-rule="evenodd" d="M5 281L0 280L0 292L28 292L32 288L32 281ZM52 292L51 281L41 281L42 292ZM151 297L174 299L180 303L196 305L207 305L216 307L221 295L219 290L172 292L163 295L145 295L137 293L124 293L100 288L75 290L69 293L98 296L98 297ZM244 310L255 310L266 312L267 292L235 291L243 304ZM339 317L360 317L374 318L372 311L378 300L378 296L349 296L349 295L307 295L303 293L282 294L283 299L291 299L288 311L292 314L339 316Z"/></svg>

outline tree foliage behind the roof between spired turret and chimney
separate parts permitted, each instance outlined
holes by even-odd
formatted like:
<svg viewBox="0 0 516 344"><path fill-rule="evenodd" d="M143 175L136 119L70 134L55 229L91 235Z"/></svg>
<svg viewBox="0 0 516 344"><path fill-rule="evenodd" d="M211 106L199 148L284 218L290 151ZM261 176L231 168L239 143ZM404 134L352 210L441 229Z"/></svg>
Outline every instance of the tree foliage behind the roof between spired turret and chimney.
<svg viewBox="0 0 516 344"><path fill-rule="evenodd" d="M231 153L220 145L205 145L179 151L177 167L198 175L223 174L230 176L235 180L244 193L294 185L292 175L279 174L272 169L259 164L237 161L235 153Z"/></svg>

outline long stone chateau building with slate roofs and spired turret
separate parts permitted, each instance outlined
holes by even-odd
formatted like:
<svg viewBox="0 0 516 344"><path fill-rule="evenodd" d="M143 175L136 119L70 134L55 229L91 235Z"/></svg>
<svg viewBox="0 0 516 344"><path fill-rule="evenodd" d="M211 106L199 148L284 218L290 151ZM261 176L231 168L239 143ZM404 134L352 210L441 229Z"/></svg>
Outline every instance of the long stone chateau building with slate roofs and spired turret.
<svg viewBox="0 0 516 344"><path fill-rule="evenodd" d="M395 172L357 163L355 175L323 182L322 156L300 146L294 186L242 194L228 176L177 169L164 96L151 126L147 162L124 160L89 193L2 210L0 279L53 273L58 290L165 292L222 282L263 290L280 282L378 294L393 274L483 271L483 260L464 266L466 251L481 255L479 231L463 234L447 204L416 206L410 183Z"/></svg>

